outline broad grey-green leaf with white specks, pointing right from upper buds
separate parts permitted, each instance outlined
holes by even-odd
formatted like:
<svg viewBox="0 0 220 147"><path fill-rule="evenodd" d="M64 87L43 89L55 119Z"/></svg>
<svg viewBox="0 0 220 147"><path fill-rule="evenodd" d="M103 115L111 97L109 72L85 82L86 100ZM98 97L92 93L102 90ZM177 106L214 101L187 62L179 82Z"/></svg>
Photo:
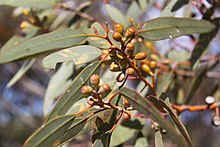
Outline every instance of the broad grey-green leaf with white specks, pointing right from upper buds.
<svg viewBox="0 0 220 147"><path fill-rule="evenodd" d="M159 17L145 21L138 34L147 40L162 40L195 33L207 33L214 25L205 20L190 18Z"/></svg>

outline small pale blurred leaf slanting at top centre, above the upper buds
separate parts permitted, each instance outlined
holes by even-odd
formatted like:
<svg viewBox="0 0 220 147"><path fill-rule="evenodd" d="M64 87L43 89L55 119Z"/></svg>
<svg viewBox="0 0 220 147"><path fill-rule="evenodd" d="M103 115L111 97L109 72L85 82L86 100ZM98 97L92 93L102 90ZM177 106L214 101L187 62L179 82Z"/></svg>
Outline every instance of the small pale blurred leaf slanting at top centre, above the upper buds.
<svg viewBox="0 0 220 147"><path fill-rule="evenodd" d="M105 8L112 20L114 20L117 23L121 23L124 27L127 27L129 25L126 17L117 8L109 4L106 4Z"/></svg>

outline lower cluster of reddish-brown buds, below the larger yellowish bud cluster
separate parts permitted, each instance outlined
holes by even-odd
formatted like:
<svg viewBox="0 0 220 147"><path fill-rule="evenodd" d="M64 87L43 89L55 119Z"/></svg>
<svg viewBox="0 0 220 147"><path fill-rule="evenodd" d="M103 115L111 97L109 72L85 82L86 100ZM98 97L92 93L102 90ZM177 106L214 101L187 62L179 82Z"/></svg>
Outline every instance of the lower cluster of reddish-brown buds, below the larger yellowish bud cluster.
<svg viewBox="0 0 220 147"><path fill-rule="evenodd" d="M89 79L89 85L84 85L81 88L81 93L87 97L89 105L103 106L102 99L111 91L109 84L100 85L100 77L93 74Z"/></svg>

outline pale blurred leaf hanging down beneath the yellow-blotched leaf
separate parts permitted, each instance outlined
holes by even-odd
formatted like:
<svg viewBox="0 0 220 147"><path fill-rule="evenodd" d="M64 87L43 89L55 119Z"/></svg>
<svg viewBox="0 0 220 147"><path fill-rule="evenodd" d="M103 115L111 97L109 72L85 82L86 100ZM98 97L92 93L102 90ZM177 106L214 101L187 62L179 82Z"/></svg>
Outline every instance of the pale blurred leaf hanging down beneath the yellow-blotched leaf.
<svg viewBox="0 0 220 147"><path fill-rule="evenodd" d="M74 67L73 62L66 62L61 65L57 72L51 77L44 96L43 114L47 116L55 98L61 95L72 80L70 76Z"/></svg>

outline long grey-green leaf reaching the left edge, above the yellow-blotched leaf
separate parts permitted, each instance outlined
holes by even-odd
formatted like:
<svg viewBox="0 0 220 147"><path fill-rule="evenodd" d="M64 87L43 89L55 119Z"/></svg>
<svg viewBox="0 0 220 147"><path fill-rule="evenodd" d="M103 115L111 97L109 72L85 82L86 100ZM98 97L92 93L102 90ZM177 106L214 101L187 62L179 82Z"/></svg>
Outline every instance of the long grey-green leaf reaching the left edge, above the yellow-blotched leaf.
<svg viewBox="0 0 220 147"><path fill-rule="evenodd" d="M86 39L81 32L62 29L48 34L36 36L8 51L0 51L0 63L36 55L54 49L79 45Z"/></svg>

